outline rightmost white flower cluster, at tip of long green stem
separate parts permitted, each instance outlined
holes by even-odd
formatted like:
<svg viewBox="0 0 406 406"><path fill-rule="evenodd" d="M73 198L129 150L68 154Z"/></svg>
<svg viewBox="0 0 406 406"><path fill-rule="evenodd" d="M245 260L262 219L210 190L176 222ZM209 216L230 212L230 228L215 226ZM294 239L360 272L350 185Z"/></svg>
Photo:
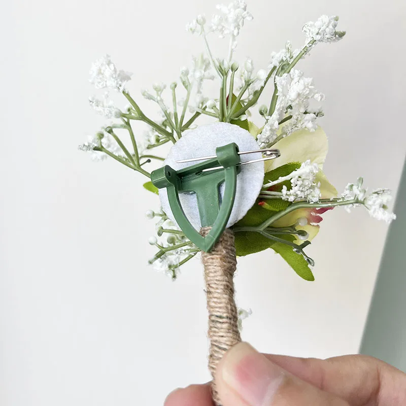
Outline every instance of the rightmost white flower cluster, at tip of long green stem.
<svg viewBox="0 0 406 406"><path fill-rule="evenodd" d="M388 203L392 200L389 189L375 189L369 195L367 189L362 187L363 179L358 178L357 182L349 183L341 195L341 200L358 200L359 203L344 206L344 209L350 212L352 207L365 206L371 217L377 220L383 220L388 224L396 219L396 215L388 210Z"/></svg>

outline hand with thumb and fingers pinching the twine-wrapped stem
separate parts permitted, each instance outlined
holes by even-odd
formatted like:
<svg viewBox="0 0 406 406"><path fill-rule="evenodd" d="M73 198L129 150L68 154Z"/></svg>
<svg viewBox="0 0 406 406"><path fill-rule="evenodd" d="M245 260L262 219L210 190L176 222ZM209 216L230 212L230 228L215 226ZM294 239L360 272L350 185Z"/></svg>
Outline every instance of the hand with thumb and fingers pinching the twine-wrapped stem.
<svg viewBox="0 0 406 406"><path fill-rule="evenodd" d="M217 368L223 406L405 406L406 374L378 359L260 354L247 343ZM165 406L213 406L210 384L177 389Z"/></svg>

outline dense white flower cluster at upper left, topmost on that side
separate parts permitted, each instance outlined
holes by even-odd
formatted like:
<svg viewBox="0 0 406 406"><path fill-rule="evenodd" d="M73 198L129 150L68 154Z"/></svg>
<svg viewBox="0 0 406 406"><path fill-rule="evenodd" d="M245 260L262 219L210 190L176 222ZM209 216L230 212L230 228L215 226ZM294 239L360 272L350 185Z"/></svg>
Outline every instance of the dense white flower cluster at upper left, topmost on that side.
<svg viewBox="0 0 406 406"><path fill-rule="evenodd" d="M112 62L110 55L93 62L90 68L90 83L93 83L96 89L114 89L117 91L125 90L125 84L131 79L131 73L118 70Z"/></svg>

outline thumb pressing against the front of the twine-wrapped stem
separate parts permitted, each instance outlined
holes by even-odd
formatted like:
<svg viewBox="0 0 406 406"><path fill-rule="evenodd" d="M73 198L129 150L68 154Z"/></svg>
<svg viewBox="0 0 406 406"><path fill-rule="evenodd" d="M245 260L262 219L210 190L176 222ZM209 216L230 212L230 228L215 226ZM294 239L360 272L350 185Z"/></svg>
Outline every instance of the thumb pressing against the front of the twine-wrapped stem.
<svg viewBox="0 0 406 406"><path fill-rule="evenodd" d="M291 375L247 343L224 355L217 367L216 386L223 406L349 406Z"/></svg>

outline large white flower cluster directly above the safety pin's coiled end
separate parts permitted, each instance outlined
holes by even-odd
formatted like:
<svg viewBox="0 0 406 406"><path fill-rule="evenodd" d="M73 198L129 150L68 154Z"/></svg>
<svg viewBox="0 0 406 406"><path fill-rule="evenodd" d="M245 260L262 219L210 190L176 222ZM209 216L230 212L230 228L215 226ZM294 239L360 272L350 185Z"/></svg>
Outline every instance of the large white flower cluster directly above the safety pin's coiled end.
<svg viewBox="0 0 406 406"><path fill-rule="evenodd" d="M312 78L303 77L303 72L292 69L290 74L283 74L275 78L278 89L278 100L272 116L265 117L266 122L257 141L261 148L272 144L278 137L280 121L286 115L292 116L283 124L280 137L289 136L292 132L302 128L310 131L317 129L316 119L322 115L320 108L316 110L310 106L311 99L323 101L325 96L315 89Z"/></svg>

